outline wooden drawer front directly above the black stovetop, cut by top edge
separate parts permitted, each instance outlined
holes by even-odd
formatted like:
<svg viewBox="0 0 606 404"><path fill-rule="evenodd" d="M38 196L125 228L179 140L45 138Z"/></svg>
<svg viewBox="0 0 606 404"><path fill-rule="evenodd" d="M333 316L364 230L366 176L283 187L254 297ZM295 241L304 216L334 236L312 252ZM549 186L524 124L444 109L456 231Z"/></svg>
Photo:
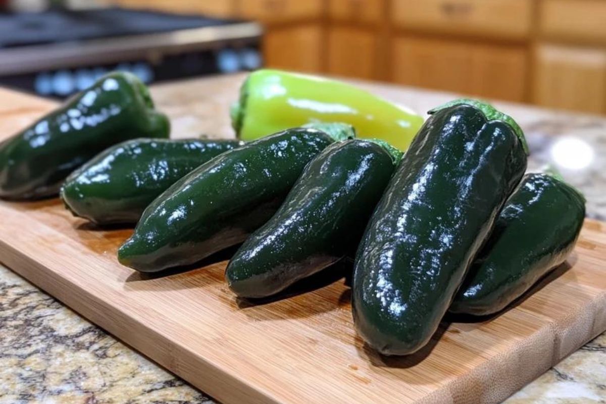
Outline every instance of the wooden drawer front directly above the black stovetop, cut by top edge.
<svg viewBox="0 0 606 404"><path fill-rule="evenodd" d="M233 16L236 11L235 0L112 0L112 4L172 13L199 13L218 17Z"/></svg>

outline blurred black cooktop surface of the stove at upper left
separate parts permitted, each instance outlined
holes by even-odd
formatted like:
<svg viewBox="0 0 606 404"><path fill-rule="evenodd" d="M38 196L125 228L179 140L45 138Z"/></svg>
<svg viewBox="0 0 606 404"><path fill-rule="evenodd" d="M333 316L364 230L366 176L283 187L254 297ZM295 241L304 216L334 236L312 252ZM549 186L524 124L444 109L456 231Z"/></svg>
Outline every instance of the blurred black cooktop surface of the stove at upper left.
<svg viewBox="0 0 606 404"><path fill-rule="evenodd" d="M0 48L213 27L239 22L125 8L0 13Z"/></svg>

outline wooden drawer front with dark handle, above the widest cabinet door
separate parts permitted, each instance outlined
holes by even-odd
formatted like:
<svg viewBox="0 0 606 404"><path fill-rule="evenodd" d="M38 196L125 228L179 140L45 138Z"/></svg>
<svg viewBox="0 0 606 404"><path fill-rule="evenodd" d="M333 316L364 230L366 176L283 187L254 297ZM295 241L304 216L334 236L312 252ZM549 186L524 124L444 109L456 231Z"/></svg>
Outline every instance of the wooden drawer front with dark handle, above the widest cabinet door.
<svg viewBox="0 0 606 404"><path fill-rule="evenodd" d="M393 0L402 27L522 39L529 35L531 0Z"/></svg>

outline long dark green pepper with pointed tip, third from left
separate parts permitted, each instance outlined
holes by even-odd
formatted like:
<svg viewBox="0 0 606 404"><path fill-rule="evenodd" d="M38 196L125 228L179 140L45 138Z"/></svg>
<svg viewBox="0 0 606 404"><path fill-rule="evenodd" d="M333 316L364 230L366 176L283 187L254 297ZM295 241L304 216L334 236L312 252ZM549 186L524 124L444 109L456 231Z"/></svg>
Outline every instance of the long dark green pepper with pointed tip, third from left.
<svg viewBox="0 0 606 404"><path fill-rule="evenodd" d="M145 209L118 250L119 261L155 272L244 241L275 213L305 165L332 142L324 131L294 128L202 164Z"/></svg>

